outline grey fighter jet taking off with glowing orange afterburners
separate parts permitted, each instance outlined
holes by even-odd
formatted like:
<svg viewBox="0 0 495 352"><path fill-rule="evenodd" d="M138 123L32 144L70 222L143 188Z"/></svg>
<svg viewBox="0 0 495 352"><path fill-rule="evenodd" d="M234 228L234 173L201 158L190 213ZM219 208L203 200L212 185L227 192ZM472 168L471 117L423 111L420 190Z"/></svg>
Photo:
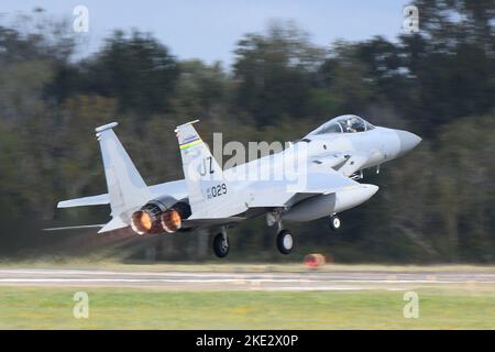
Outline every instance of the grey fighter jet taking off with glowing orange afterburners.
<svg viewBox="0 0 495 352"><path fill-rule="evenodd" d="M404 155L421 141L414 133L374 127L346 114L323 123L278 153L222 169L194 128L196 122L175 130L184 179L154 186L145 184L118 140L113 132L118 123L97 128L108 194L59 201L57 207L110 205L111 220L50 230L92 227L106 233L130 227L139 235L217 230L212 249L218 257L224 257L230 249L227 229L265 216L267 226L276 226L278 251L289 254L294 234L286 223L327 217L329 227L338 230L340 212L363 204L378 190L378 186L359 183L363 170L376 167L380 172L383 163Z"/></svg>

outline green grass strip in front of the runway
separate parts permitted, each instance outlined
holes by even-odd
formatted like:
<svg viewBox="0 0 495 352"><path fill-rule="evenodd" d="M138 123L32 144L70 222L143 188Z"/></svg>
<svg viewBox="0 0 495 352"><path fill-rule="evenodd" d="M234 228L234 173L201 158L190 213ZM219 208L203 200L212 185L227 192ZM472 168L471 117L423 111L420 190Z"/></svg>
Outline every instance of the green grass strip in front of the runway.
<svg viewBox="0 0 495 352"><path fill-rule="evenodd" d="M73 296L89 295L89 318ZM495 293L418 289L419 318L404 292L166 292L0 287L0 329L494 329Z"/></svg>

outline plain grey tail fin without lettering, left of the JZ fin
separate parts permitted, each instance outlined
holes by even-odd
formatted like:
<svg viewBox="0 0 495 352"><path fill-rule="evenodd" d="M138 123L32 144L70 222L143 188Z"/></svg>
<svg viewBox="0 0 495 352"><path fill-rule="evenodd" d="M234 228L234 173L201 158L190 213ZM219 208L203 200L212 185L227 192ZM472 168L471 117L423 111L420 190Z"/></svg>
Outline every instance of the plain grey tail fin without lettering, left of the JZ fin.
<svg viewBox="0 0 495 352"><path fill-rule="evenodd" d="M112 122L101 125L95 131L103 158L111 216L114 218L112 221L121 223L122 221L118 218L123 212L143 206L152 197L150 189L112 130L117 125L117 122Z"/></svg>

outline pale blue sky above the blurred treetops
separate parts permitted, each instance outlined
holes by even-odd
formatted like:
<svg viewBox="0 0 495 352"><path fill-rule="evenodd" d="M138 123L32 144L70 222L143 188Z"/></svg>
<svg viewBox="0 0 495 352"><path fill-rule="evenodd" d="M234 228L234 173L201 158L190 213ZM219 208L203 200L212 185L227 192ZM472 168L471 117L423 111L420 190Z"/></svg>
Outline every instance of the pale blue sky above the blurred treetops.
<svg viewBox="0 0 495 352"><path fill-rule="evenodd" d="M402 32L402 0L2 0L0 21L43 8L55 18L76 16L74 8L89 11L89 31L79 55L96 52L113 30L151 32L180 59L221 61L230 66L235 43L245 34L264 32L273 20L295 21L311 41L328 46L338 38L359 41Z"/></svg>

